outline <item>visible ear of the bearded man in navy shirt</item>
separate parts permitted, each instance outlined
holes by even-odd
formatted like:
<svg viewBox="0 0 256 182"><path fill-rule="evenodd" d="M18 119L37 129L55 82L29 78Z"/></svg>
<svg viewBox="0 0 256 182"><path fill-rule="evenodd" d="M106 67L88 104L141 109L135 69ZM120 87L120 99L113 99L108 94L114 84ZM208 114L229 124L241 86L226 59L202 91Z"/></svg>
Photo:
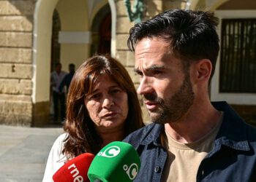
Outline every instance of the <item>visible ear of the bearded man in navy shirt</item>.
<svg viewBox="0 0 256 182"><path fill-rule="evenodd" d="M196 70L195 79L197 80L197 82L200 82L200 81L208 82L211 76L211 71L212 71L211 61L208 59L197 61L197 63L195 63L195 70Z"/></svg>

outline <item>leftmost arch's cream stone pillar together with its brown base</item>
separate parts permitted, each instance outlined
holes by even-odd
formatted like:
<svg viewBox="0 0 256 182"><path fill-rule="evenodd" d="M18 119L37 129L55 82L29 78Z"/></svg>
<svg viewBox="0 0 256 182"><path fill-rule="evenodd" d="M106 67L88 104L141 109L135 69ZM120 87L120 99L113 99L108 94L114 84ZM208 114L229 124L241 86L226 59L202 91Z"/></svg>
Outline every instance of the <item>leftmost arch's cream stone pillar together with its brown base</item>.
<svg viewBox="0 0 256 182"><path fill-rule="evenodd" d="M34 30L32 48L32 125L40 125L48 120L50 113L50 43L53 10L58 0L38 0L34 10ZM45 78L49 78L45 81Z"/></svg>

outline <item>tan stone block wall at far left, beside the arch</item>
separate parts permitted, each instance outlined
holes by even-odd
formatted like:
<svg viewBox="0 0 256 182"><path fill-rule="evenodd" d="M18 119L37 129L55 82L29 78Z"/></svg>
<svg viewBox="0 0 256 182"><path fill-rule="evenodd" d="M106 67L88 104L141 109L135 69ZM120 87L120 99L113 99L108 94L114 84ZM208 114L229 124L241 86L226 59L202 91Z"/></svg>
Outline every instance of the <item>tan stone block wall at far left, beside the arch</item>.
<svg viewBox="0 0 256 182"><path fill-rule="evenodd" d="M31 126L34 4L0 1L0 124Z"/></svg>

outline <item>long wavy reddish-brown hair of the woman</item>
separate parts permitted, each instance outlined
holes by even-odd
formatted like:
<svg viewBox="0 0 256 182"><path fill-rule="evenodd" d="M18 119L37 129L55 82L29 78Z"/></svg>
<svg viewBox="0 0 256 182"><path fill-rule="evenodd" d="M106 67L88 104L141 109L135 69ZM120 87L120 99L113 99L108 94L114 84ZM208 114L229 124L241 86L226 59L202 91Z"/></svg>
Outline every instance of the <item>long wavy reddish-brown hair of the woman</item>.
<svg viewBox="0 0 256 182"><path fill-rule="evenodd" d="M63 150L68 158L85 152L97 154L102 144L102 138L97 134L84 104L86 95L92 92L100 74L108 74L121 90L127 92L129 112L125 121L124 137L143 127L138 95L127 70L118 60L108 55L96 55L78 68L69 87L67 120L64 124L64 131L69 135L64 141Z"/></svg>

